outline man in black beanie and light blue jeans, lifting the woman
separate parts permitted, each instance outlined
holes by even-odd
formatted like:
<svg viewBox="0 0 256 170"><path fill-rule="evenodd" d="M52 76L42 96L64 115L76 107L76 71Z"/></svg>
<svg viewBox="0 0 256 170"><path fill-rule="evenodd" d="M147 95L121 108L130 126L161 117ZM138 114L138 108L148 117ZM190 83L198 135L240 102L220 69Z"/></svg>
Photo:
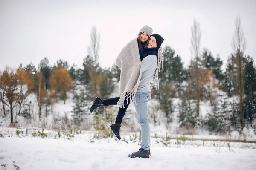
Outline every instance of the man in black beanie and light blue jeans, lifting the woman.
<svg viewBox="0 0 256 170"><path fill-rule="evenodd" d="M137 119L141 127L141 147L140 150L129 154L130 158L142 157L149 158L149 140L150 140L150 127L148 121L148 100L151 98L150 83L155 79L155 86L159 89L158 72L162 63L163 69L163 55L162 43L163 37L159 34L153 34L150 37L148 47L142 58L142 73L140 83L135 95L136 104L135 109L137 112Z"/></svg>

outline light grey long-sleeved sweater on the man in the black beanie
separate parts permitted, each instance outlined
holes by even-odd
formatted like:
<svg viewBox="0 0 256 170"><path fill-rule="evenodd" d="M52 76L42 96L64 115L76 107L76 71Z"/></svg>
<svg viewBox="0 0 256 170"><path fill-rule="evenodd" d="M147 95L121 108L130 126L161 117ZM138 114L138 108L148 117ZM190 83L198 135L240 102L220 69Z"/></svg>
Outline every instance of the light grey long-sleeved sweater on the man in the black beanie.
<svg viewBox="0 0 256 170"><path fill-rule="evenodd" d="M150 83L153 81L157 69L157 56L148 55L143 58L141 63L142 73L137 92L150 92Z"/></svg>

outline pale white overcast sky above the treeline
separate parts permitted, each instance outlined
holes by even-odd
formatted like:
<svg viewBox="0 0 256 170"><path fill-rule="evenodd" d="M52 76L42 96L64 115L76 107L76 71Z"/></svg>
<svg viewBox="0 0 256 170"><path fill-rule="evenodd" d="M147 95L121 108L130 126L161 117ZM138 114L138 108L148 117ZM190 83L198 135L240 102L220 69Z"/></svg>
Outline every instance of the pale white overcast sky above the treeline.
<svg viewBox="0 0 256 170"><path fill-rule="evenodd" d="M138 3L141 2L141 3ZM61 58L82 66L96 26L99 62L110 67L140 28L151 26L182 61L190 61L191 26L201 23L201 49L208 48L226 62L236 16L240 16L245 53L256 60L256 0L0 0L0 70L44 57L52 65Z"/></svg>

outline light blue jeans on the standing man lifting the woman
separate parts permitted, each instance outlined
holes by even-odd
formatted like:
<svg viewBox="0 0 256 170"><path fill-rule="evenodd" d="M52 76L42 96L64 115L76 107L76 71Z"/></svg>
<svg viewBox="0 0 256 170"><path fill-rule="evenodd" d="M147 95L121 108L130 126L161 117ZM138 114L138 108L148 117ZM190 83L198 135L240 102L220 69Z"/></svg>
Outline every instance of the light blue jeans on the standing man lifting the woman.
<svg viewBox="0 0 256 170"><path fill-rule="evenodd" d="M141 148L149 149L150 127L148 121L148 100L151 98L150 92L137 92L135 94L136 104L134 104L137 119L141 127Z"/></svg>

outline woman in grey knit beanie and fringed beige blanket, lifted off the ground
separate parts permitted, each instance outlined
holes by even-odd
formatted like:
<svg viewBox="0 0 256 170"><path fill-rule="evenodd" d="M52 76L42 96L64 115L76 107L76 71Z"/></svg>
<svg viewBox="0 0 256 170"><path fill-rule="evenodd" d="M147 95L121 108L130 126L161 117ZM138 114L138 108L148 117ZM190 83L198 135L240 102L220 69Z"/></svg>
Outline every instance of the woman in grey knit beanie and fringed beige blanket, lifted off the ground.
<svg viewBox="0 0 256 170"><path fill-rule="evenodd" d="M137 78L139 78L140 76L140 70L138 70L138 68L141 67L141 60L143 58L143 53L144 53L144 48L148 45L149 42L149 37L152 34L152 28L149 26L143 26L140 29L139 32L139 36L138 38L135 38L134 40L131 40L123 49L122 51L119 53L116 62L119 63L117 64L119 66L119 68L123 68L123 71L121 69L121 74L120 74L120 97L116 97L116 98L110 98L110 99L106 99L106 100L102 100L101 98L97 97L95 99L95 101L93 102L91 108L90 108L90 112L93 112L94 109L98 108L98 107L102 107L102 106L109 106L109 105L119 105L119 110L118 110L118 114L116 116L116 122L115 124L111 125L111 129L113 130L114 134L116 135L116 137L120 140L120 127L121 127L121 123L122 123L122 119L125 115L125 112L129 106L129 104L131 102L133 102L134 100L132 100L133 96L135 95L131 95L131 91L132 89L134 91L137 90L137 86L136 86L136 79L135 81L131 80L127 83L122 83L124 79L127 79L128 76L126 75L133 75ZM134 47L135 48L131 48ZM129 49L131 48L131 49ZM127 52L129 51L129 52ZM127 57L127 54L129 54L130 56ZM120 58L122 56L126 56L125 58L127 58L129 61L134 61L135 63L139 63L139 65L137 66L137 69L130 69L131 65L133 65L132 63L126 62L125 64L122 64ZM134 60L131 60L131 58L134 57ZM140 59L139 59L140 57ZM129 70L127 70L126 68L129 68ZM126 70L126 71L124 71ZM125 89L126 84L132 84L130 89ZM128 101L129 100L129 101Z"/></svg>

